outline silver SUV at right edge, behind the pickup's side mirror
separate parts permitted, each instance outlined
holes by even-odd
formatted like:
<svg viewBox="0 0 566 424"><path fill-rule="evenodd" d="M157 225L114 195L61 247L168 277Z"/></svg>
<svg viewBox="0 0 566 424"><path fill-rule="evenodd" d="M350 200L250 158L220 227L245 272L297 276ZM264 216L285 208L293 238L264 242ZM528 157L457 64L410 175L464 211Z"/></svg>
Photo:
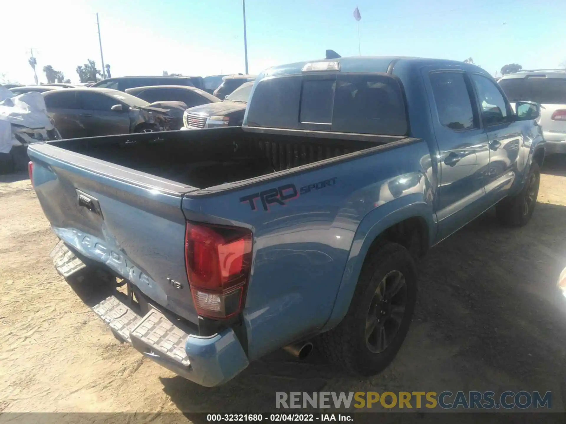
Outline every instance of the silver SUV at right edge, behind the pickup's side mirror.
<svg viewBox="0 0 566 424"><path fill-rule="evenodd" d="M504 75L498 81L509 101L540 103L537 122L547 141L546 153L566 153L566 70L529 70Z"/></svg>

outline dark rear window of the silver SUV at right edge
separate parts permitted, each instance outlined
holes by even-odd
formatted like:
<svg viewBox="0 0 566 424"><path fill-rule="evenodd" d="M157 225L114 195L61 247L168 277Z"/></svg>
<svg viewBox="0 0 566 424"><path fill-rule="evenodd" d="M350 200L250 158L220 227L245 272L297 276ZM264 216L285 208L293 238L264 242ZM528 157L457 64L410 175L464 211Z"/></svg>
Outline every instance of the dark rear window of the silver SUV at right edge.
<svg viewBox="0 0 566 424"><path fill-rule="evenodd" d="M548 78L546 75L508 78L499 85L510 101L528 100L549 105L566 104L566 78Z"/></svg>

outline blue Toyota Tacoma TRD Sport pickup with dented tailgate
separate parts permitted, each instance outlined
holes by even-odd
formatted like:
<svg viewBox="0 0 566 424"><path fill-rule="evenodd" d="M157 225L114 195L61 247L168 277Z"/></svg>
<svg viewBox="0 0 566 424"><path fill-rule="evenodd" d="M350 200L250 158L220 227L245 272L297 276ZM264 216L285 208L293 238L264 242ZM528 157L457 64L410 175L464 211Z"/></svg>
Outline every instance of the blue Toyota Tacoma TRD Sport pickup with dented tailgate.
<svg viewBox="0 0 566 424"><path fill-rule="evenodd" d="M241 127L33 144L64 276L126 283L118 338L204 386L314 339L355 375L408 332L415 259L496 205L528 222L544 140L482 68L354 57L258 76Z"/></svg>

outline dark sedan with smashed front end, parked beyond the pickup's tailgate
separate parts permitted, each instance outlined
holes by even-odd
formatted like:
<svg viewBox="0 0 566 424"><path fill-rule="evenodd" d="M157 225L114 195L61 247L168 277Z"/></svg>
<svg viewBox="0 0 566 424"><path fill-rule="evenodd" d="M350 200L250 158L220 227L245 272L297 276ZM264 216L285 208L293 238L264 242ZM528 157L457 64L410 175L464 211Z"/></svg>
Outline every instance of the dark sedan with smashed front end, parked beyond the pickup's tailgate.
<svg viewBox="0 0 566 424"><path fill-rule="evenodd" d="M108 88L65 88L42 95L63 139L171 129L165 102L148 103Z"/></svg>

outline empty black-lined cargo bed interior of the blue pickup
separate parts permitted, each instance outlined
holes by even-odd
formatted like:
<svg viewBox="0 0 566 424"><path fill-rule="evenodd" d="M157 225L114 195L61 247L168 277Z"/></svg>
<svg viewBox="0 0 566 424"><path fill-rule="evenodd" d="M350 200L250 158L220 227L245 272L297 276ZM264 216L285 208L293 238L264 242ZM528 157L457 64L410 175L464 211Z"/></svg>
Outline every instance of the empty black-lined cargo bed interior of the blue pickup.
<svg viewBox="0 0 566 424"><path fill-rule="evenodd" d="M50 144L203 189L311 165L402 138L230 127L93 137ZM89 167L92 165L91 162Z"/></svg>

